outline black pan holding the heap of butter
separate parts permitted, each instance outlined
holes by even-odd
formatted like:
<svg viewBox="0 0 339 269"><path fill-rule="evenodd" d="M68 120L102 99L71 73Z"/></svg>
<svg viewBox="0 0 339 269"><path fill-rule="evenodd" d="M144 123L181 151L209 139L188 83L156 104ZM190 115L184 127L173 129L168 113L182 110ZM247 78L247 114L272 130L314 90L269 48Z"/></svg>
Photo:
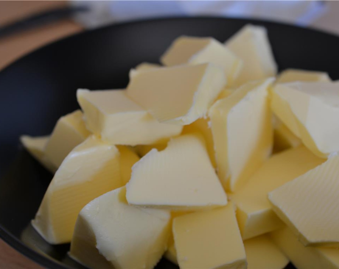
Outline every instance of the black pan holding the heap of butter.
<svg viewBox="0 0 339 269"><path fill-rule="evenodd" d="M212 36L224 42L247 23L268 29L280 70L319 70L339 78L337 36L280 23L206 17L137 21L83 32L2 70L0 237L44 267L83 268L67 257L68 244L47 244L29 224L52 175L23 150L19 136L51 133L61 115L78 108L77 88L124 88L130 68L143 61L158 62L179 35ZM157 268L177 267L163 259Z"/></svg>

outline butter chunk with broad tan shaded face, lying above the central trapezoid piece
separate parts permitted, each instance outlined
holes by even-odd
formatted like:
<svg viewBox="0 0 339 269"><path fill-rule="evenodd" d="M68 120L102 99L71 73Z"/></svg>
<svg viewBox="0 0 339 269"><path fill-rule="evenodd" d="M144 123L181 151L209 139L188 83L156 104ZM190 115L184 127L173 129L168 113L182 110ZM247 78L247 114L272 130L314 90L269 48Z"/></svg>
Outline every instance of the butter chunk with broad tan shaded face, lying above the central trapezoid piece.
<svg viewBox="0 0 339 269"><path fill-rule="evenodd" d="M222 69L211 63L137 71L127 95L160 122L187 125L206 115L226 84Z"/></svg>

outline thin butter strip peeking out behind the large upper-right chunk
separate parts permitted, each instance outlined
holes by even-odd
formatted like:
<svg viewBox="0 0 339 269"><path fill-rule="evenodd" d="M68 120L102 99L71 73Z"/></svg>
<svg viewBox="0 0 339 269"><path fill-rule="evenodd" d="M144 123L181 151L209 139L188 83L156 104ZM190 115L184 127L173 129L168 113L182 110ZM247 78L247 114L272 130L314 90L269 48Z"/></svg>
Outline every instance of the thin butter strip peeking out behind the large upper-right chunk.
<svg viewBox="0 0 339 269"><path fill-rule="evenodd" d="M279 74L276 80L276 84L295 82L295 81L330 82L331 79L326 72L308 71L308 70L289 68L289 69L282 71Z"/></svg>

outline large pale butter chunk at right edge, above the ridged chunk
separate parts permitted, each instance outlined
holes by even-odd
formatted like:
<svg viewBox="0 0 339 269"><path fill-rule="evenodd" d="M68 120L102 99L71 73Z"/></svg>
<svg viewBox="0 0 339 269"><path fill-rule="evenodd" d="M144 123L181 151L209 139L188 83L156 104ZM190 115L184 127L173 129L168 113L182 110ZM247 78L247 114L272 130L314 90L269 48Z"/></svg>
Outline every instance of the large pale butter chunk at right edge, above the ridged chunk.
<svg viewBox="0 0 339 269"><path fill-rule="evenodd" d="M339 151L339 82L278 84L271 108L314 154Z"/></svg>

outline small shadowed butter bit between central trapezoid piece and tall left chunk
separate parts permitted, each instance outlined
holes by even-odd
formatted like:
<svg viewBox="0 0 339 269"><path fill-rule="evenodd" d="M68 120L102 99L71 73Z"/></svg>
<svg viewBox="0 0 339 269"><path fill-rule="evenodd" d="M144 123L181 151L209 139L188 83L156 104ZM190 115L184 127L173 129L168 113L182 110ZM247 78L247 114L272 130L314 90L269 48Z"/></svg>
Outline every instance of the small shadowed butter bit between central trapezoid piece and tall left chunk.
<svg viewBox="0 0 339 269"><path fill-rule="evenodd" d="M140 157L129 147L118 145L117 148L120 153L120 174L122 185L126 185L129 179L131 179L132 166L140 160Z"/></svg>

